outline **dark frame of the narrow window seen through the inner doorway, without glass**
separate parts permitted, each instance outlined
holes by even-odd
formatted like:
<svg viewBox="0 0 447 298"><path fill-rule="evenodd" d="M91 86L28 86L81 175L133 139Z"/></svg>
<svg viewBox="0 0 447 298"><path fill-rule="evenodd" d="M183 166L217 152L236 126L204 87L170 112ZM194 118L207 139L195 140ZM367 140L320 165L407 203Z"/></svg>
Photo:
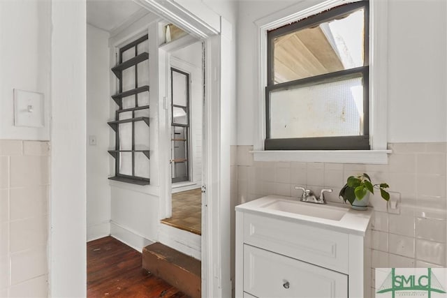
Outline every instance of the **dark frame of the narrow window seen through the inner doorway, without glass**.
<svg viewBox="0 0 447 298"><path fill-rule="evenodd" d="M173 73L174 71L176 73L181 73L182 75L186 76L186 107L184 105L174 105L174 96L173 96ZM172 178L172 183L176 183L176 182L183 182L183 181L189 181L189 126L190 126L190 122L191 122L191 113L189 110L189 73L185 73L182 70L179 70L178 68L170 68L170 94L173 97L171 100L171 107L170 107L170 112L171 115L174 114L174 107L184 107L186 108L186 122L187 124L178 124L178 123L174 123L174 117L171 117L171 126L177 126L177 127L183 127L185 129L185 133L184 133L184 138L185 138L185 156L186 156L186 161L178 161L175 162L173 161L173 163L186 163L185 167L186 167L186 177L175 177ZM174 141L175 142L175 141ZM175 143L174 143L175 144ZM172 146L172 142L171 142L171 146ZM175 165L174 165L175 166Z"/></svg>

